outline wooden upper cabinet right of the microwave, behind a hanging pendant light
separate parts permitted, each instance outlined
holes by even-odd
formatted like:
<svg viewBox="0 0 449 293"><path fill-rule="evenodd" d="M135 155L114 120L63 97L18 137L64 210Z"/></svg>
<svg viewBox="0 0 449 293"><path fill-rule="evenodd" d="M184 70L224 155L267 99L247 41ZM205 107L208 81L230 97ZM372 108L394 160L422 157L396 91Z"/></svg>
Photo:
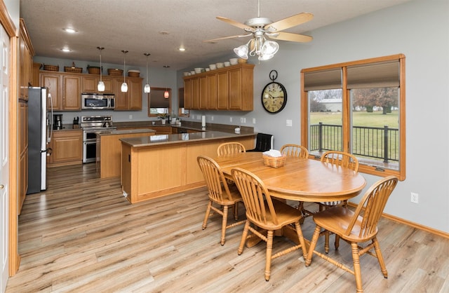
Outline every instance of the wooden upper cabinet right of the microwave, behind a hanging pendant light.
<svg viewBox="0 0 449 293"><path fill-rule="evenodd" d="M128 92L121 92L123 77L114 78L115 109L142 110L142 78L127 77Z"/></svg>

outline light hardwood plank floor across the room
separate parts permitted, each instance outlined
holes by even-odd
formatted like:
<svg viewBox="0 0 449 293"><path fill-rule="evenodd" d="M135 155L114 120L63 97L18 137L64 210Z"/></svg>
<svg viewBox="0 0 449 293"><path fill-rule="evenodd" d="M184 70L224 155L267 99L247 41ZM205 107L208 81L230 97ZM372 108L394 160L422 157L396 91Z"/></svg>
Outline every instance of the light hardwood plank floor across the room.
<svg viewBox="0 0 449 293"><path fill-rule="evenodd" d="M207 202L206 189L196 189L130 205L120 180L99 179L95 164L51 168L48 190L25 199L22 261L6 292L355 291L353 275L319 257L306 268L300 250L274 259L266 282L264 243L237 255L236 226L221 246L220 215L201 229ZM307 239L313 229L305 219ZM365 292L449 292L447 239L388 219L379 229L389 278L376 259L361 257ZM274 251L287 244L276 237ZM351 264L347 243L329 254Z"/></svg>

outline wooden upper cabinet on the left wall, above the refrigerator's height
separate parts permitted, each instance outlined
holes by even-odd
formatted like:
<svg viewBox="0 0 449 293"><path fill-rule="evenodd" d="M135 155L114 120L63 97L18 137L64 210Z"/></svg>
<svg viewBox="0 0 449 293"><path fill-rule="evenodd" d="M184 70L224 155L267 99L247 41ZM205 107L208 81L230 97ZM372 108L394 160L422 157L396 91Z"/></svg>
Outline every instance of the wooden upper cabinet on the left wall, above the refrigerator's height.
<svg viewBox="0 0 449 293"><path fill-rule="evenodd" d="M32 46L31 40L29 39L29 34L27 32L27 27L25 26L25 21L20 18L20 99L28 100L28 87L37 86L33 85L32 74L33 74L33 56L34 48Z"/></svg>

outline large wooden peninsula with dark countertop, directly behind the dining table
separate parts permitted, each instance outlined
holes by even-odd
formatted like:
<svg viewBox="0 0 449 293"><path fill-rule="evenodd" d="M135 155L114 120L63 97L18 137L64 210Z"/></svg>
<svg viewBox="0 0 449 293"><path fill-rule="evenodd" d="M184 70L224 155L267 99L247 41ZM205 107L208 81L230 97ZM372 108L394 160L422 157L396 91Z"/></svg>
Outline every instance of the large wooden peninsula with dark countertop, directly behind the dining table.
<svg viewBox="0 0 449 293"><path fill-rule="evenodd" d="M255 135L204 131L120 139L123 196L138 203L204 186L196 157L214 158L223 142L253 149Z"/></svg>

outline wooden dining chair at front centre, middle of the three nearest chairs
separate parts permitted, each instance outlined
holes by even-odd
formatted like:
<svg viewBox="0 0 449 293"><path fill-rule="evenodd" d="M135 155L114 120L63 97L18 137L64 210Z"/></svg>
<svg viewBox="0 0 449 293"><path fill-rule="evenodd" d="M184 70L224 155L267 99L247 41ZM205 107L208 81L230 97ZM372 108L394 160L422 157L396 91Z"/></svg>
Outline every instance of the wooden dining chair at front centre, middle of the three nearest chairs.
<svg viewBox="0 0 449 293"><path fill-rule="evenodd" d="M250 238L257 236L264 240L267 243L265 280L269 280L272 259L281 257L299 248L302 249L304 257L307 254L300 226L302 213L294 207L290 207L290 205L272 198L262 180L253 173L241 168L234 168L231 170L231 173L246 207L246 224L237 252L239 255L243 252L246 240ZM251 224L255 227L251 226ZM294 224L295 228L290 224ZM264 236L261 231L257 230L257 227L266 230L267 236ZM274 231L283 229L283 227L295 230L297 243L300 244L293 245L286 250L272 255ZM251 231L252 234L248 235L248 231Z"/></svg>

